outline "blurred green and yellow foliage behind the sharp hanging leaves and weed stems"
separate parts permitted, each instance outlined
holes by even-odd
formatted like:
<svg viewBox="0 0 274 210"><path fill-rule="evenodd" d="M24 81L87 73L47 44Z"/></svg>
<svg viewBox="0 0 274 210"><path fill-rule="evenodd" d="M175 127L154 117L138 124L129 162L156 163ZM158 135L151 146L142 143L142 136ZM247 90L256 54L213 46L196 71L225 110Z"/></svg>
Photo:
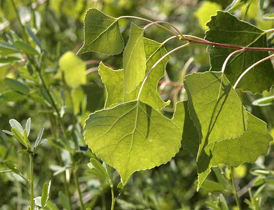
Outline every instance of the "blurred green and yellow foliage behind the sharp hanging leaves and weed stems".
<svg viewBox="0 0 274 210"><path fill-rule="evenodd" d="M106 90L98 74L98 65L103 61L113 69L122 69L122 54L105 56L98 53L85 53L76 56L83 44L83 20L86 10L96 7L106 14L118 17L135 15L151 20L163 20L174 24L183 34L204 37L210 15L216 10L230 9L230 12L261 29L274 28L274 20L265 14L274 12L274 2L265 0L14 0L19 10L20 19L29 30L35 34L29 39L31 48L21 47L27 54L39 54L40 69L46 84L58 107L65 126L72 136L68 145L63 141L58 122L55 120L50 99L42 89L39 75L33 71L33 65L22 54L14 53L14 49L3 51L0 46L0 128L9 130L9 119L14 118L22 125L31 117L31 132L29 139L34 142L40 128L44 128L43 138L47 143L37 152L34 158L35 196L41 195L43 183L51 180L51 195L48 209L66 209L64 204L63 172L73 183L70 174L71 166L78 167L80 189L86 207L95 210L107 210L111 205L111 191L106 182L88 173L87 163L95 157L83 140L84 120L89 113L104 107ZM228 7L229 6L229 7ZM264 16L265 15L265 16ZM125 41L130 33L130 19L119 21ZM143 25L142 21L135 21ZM31 32L29 32L31 31ZM208 34L207 34L208 35ZM24 31L16 19L10 0L0 0L0 41L16 42L20 46L20 37ZM152 26L145 31L145 37L162 42L169 34L159 27ZM237 35L235 35L237 36ZM35 37L38 37L35 38ZM268 35L268 44L273 47L274 34ZM18 42L19 41L19 42ZM172 40L167 45L167 51L179 45ZM13 51L12 51L13 50ZM212 51L211 51L212 52ZM214 53L214 52L213 52ZM211 64L213 62L211 61ZM107 67L106 67L107 68ZM183 77L190 72L208 71L209 56L204 45L191 45L183 51L174 53L166 65L167 76L171 81L182 83ZM9 79L7 79L9 78ZM165 76L165 79L167 77ZM10 80L12 79L12 80ZM14 84L15 83L15 84ZM163 80L159 84L162 84ZM40 92L40 90L43 90ZM170 105L163 109L167 117L171 117L175 104L183 98L181 88L167 85L158 89L164 101L170 100ZM253 102L266 96L273 96L274 89L263 94L253 95L250 92L238 92L248 111L268 123L268 129L274 135L274 104L258 106ZM55 113L56 114L56 113ZM56 124L51 127L50 124ZM260 145L258 145L260 146ZM6 169L2 164L8 160L16 164L21 173L27 175L28 159L16 151L22 149L17 141L5 133L0 133L0 171ZM57 150L61 149L59 156ZM69 154L72 154L70 157ZM72 160L73 159L73 160ZM221 176L229 173L222 165L214 169L199 192L197 187L196 163L186 150L178 154L167 164L133 175L122 196L117 201L117 209L152 209L152 210L192 210L207 209L210 204L235 206L231 194L220 185ZM266 157L260 157L255 164L243 164L234 170L241 200L250 199L250 193L255 193L255 199L261 199L262 208L269 210L274 206L274 150L271 146ZM114 173L114 182L118 184L120 177ZM218 183L217 183L218 182ZM262 187L263 186L263 187ZM70 185L73 209L79 208L78 196L74 185ZM0 209L20 210L28 205L28 184L21 177L11 173L0 174ZM257 191L259 189L259 191ZM224 202L224 197L226 202ZM205 203L207 202L207 203ZM248 209L248 204L243 202ZM211 205L211 208L212 205Z"/></svg>

